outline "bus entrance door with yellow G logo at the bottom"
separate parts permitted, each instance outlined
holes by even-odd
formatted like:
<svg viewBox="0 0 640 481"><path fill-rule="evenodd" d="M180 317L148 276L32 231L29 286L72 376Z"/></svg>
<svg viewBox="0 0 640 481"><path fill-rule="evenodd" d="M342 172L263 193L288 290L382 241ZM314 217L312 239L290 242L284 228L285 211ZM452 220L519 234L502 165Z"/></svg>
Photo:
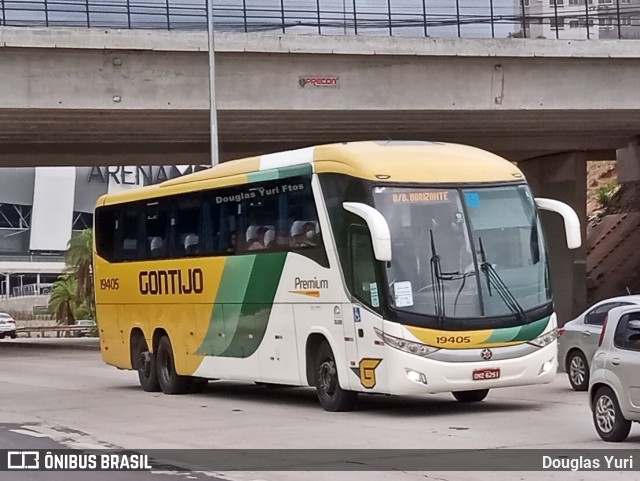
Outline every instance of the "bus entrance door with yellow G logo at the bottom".
<svg viewBox="0 0 640 481"><path fill-rule="evenodd" d="M384 343L376 334L382 332L378 261L373 255L371 235L362 226L349 230L350 290L352 304L343 304L344 336L350 387L358 391L386 391Z"/></svg>

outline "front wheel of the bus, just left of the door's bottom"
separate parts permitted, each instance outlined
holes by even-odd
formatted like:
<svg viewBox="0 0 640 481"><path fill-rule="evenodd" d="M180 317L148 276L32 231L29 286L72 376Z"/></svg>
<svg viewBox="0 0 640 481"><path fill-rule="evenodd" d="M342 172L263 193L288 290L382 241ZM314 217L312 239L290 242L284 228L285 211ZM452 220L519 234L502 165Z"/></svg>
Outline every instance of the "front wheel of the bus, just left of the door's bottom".
<svg viewBox="0 0 640 481"><path fill-rule="evenodd" d="M338 370L331 347L326 342L318 348L315 364L316 393L325 411L349 411L358 393L345 391L338 382Z"/></svg>

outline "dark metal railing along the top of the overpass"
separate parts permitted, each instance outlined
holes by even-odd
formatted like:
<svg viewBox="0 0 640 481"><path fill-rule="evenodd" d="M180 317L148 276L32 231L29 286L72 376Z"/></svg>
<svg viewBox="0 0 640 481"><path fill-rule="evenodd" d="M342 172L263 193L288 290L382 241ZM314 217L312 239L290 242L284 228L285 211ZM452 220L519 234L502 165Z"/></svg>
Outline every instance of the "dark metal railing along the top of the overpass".
<svg viewBox="0 0 640 481"><path fill-rule="evenodd" d="M0 25L205 30L211 0L0 0ZM640 38L640 0L212 0L216 30Z"/></svg>

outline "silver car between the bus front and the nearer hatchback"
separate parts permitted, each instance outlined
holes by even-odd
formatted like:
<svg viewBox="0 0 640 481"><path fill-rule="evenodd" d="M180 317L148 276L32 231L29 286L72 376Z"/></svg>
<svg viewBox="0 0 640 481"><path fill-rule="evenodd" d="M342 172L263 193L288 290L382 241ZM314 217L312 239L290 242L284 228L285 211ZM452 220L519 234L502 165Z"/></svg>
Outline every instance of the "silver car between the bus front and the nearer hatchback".
<svg viewBox="0 0 640 481"><path fill-rule="evenodd" d="M598 338L609 311L621 306L640 306L640 296L612 297L600 301L558 330L558 363L569 375L576 391L589 387L591 359L598 348Z"/></svg>

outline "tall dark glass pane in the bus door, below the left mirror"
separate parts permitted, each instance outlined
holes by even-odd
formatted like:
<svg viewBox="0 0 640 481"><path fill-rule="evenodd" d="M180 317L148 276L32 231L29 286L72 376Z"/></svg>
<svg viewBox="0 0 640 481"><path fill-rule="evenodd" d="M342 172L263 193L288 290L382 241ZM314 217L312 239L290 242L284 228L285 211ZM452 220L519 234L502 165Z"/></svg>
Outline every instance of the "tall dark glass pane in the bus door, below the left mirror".
<svg viewBox="0 0 640 481"><path fill-rule="evenodd" d="M369 231L364 227L352 226L349 229L349 246L351 251L351 293L365 305L379 310L377 261L373 255Z"/></svg>

